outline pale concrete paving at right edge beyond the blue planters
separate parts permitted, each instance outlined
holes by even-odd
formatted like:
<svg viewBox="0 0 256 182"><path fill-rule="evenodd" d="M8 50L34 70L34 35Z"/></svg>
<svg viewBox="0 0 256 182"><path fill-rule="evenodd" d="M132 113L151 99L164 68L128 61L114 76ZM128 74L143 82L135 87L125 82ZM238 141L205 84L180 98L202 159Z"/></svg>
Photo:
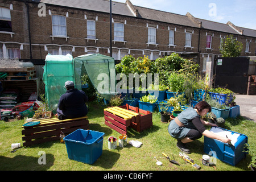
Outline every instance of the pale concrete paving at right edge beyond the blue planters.
<svg viewBox="0 0 256 182"><path fill-rule="evenodd" d="M235 102L240 106L242 117L256 122L256 95L236 94Z"/></svg>

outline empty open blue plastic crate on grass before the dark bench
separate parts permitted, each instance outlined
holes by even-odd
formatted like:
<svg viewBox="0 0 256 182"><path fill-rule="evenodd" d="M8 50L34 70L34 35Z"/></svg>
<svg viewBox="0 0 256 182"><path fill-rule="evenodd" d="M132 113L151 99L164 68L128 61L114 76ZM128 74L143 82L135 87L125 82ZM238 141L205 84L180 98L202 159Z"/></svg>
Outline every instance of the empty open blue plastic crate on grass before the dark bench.
<svg viewBox="0 0 256 182"><path fill-rule="evenodd" d="M68 158L86 164L93 164L102 155L105 133L78 129L64 137Z"/></svg>

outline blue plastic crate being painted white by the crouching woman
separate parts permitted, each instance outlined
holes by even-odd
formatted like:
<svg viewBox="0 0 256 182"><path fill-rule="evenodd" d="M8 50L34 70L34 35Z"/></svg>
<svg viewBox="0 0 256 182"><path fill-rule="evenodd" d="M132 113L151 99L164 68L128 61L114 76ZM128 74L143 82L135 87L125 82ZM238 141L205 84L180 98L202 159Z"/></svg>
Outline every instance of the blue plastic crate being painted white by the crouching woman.
<svg viewBox="0 0 256 182"><path fill-rule="evenodd" d="M213 129L214 127L212 127ZM210 131L212 130L210 129ZM221 129L221 128L220 128ZM222 129L225 131L230 131L226 129ZM230 131L232 134L236 133L234 131ZM237 133L239 134L239 133ZM228 143L223 143L217 139L211 139L208 137L204 137L204 152L209 154L212 151L212 154L216 154L216 158L221 160L222 162L226 162L232 166L236 166L238 162L246 157L246 148L245 143L247 143L248 137L246 135L240 134L237 138L237 142L233 145Z"/></svg>

